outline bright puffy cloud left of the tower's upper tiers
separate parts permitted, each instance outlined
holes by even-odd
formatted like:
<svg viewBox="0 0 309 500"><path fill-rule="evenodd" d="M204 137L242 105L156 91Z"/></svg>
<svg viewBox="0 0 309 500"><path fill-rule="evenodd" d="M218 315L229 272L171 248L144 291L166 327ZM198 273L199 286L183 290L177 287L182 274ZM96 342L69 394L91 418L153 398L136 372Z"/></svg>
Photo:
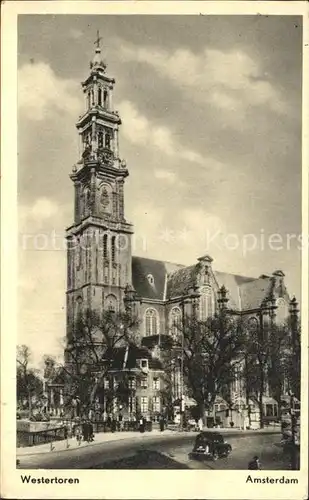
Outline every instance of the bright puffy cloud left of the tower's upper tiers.
<svg viewBox="0 0 309 500"><path fill-rule="evenodd" d="M48 113L76 117L81 111L79 84L59 78L46 63L24 64L18 71L18 105L28 120L42 121Z"/></svg>

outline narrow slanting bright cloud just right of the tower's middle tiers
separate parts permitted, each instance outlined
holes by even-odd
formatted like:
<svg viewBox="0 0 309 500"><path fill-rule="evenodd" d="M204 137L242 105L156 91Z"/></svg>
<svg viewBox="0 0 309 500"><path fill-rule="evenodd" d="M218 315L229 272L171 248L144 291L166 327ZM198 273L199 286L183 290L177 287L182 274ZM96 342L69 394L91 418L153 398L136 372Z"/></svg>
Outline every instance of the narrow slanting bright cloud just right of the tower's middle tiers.
<svg viewBox="0 0 309 500"><path fill-rule="evenodd" d="M168 156L204 164L198 152L182 147L168 127L153 125L132 102L122 101L118 107L123 120L123 134L133 144L151 145Z"/></svg>

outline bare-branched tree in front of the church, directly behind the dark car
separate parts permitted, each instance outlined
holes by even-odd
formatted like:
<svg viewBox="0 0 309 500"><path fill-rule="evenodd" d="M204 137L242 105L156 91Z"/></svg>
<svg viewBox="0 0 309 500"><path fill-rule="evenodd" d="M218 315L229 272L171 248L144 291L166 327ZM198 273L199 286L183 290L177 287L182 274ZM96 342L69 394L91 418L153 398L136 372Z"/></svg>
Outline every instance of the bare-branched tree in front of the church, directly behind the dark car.
<svg viewBox="0 0 309 500"><path fill-rule="evenodd" d="M242 319L225 310L206 321L195 315L184 318L177 346L183 356L183 374L190 396L197 402L199 414L211 412L216 396L235 378L244 356Z"/></svg>

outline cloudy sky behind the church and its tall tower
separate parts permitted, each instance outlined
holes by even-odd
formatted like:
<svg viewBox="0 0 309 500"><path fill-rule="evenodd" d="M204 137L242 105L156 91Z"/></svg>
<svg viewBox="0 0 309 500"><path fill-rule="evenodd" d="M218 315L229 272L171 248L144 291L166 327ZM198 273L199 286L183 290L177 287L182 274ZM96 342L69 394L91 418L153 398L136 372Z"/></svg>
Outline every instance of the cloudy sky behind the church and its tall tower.
<svg viewBox="0 0 309 500"><path fill-rule="evenodd" d="M61 357L65 228L97 30L116 79L133 253L258 277L300 298L302 26L291 16L22 15L19 333Z"/></svg>

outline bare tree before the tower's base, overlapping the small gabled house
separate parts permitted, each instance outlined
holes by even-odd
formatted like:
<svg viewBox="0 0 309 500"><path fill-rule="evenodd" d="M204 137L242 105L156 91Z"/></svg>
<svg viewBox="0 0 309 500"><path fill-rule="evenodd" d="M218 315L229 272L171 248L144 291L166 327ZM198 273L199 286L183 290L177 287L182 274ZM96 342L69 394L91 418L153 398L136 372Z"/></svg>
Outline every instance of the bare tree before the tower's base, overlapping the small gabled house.
<svg viewBox="0 0 309 500"><path fill-rule="evenodd" d="M93 407L97 391L104 383L119 347L135 345L137 319L127 312L90 309L81 313L67 339L61 366L65 385L65 405L80 410ZM125 391L117 391L124 394ZM111 388L105 391L110 394Z"/></svg>

